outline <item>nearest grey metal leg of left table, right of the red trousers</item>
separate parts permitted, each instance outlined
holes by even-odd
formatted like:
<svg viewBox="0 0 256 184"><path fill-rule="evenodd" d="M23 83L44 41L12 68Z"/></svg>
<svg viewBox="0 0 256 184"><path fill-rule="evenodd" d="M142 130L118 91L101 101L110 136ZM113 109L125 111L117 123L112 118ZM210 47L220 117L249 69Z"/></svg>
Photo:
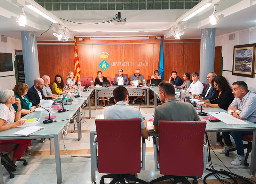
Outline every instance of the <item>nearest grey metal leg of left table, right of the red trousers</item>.
<svg viewBox="0 0 256 184"><path fill-rule="evenodd" d="M62 183L62 176L61 176L61 162L60 162L60 140L61 133L59 135L54 135L54 148L55 148L55 163L56 163L56 174L57 174L57 184Z"/></svg>

